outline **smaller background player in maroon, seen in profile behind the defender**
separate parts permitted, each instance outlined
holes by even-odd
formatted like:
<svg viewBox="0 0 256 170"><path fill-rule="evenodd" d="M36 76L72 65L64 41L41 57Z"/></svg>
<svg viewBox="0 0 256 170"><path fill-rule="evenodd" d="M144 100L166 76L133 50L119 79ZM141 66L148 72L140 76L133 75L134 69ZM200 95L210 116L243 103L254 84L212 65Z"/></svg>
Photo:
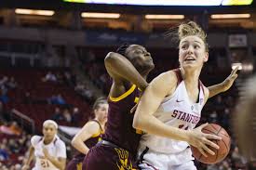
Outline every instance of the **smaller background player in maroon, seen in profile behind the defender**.
<svg viewBox="0 0 256 170"><path fill-rule="evenodd" d="M74 158L66 166L66 170L82 170L82 163L88 150L101 140L104 132L104 126L107 121L108 103L104 98L98 98L93 104L95 118L88 121L87 124L74 136L72 146L78 150Z"/></svg>

